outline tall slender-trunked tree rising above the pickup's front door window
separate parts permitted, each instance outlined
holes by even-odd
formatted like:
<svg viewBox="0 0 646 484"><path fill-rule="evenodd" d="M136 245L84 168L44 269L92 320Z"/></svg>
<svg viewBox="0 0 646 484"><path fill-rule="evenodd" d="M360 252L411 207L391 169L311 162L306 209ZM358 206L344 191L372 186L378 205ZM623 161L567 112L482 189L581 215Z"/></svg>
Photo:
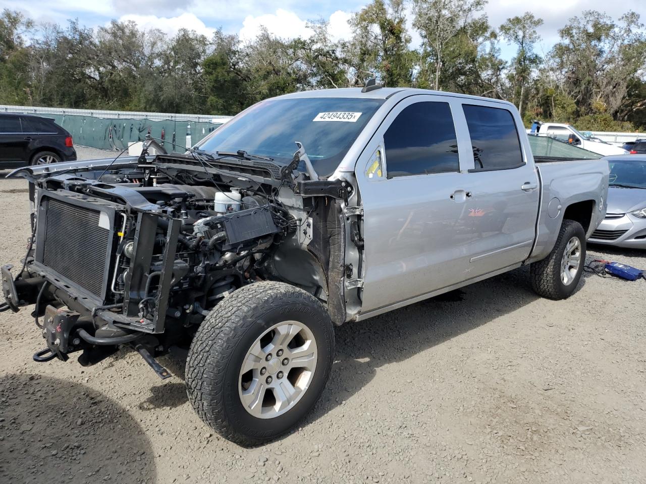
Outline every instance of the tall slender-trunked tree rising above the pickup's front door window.
<svg viewBox="0 0 646 484"><path fill-rule="evenodd" d="M485 5L486 0L413 0L413 26L432 55L435 90L441 89L440 74L448 44Z"/></svg>

